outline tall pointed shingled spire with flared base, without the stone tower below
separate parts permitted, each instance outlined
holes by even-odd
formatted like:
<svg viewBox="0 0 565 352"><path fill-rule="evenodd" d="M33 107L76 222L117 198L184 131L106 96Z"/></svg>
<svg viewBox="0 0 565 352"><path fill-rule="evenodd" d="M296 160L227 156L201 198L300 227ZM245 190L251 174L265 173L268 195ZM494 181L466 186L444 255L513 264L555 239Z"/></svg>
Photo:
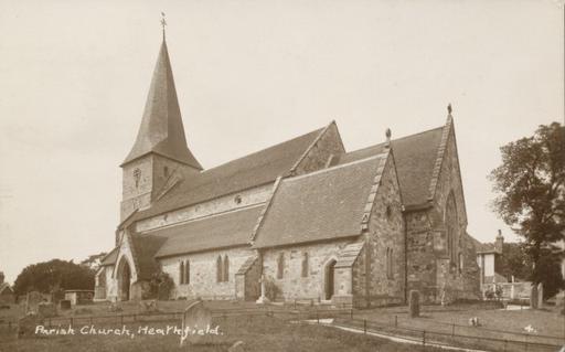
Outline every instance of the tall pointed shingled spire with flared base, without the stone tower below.
<svg viewBox="0 0 565 352"><path fill-rule="evenodd" d="M202 170L186 146L164 36L136 143L121 167L151 152Z"/></svg>

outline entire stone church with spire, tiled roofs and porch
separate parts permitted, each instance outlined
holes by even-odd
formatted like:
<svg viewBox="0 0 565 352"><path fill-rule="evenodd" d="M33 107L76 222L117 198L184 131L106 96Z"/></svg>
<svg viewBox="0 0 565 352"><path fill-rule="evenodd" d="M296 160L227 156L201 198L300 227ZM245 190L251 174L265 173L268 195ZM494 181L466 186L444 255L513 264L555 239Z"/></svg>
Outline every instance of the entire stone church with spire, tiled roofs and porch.
<svg viewBox="0 0 565 352"><path fill-rule="evenodd" d="M204 169L186 145L163 39L145 113L121 163L116 246L96 300L149 297L366 307L476 298L479 269L448 108L437 128L347 151L327 126Z"/></svg>

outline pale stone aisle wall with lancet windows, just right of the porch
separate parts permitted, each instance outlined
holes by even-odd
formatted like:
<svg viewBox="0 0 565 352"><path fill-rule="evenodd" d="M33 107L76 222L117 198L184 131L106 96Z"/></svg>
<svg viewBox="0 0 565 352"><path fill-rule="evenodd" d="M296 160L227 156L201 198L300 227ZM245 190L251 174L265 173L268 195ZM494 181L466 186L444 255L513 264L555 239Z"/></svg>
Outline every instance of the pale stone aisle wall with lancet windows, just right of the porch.
<svg viewBox="0 0 565 352"><path fill-rule="evenodd" d="M230 259L228 280L217 282L216 260L221 256ZM186 254L170 258L161 258L162 270L173 279L173 298L201 297L202 299L235 299L235 274L248 257L256 254L248 248L231 248L205 253ZM190 263L190 282L180 284L180 263Z"/></svg>

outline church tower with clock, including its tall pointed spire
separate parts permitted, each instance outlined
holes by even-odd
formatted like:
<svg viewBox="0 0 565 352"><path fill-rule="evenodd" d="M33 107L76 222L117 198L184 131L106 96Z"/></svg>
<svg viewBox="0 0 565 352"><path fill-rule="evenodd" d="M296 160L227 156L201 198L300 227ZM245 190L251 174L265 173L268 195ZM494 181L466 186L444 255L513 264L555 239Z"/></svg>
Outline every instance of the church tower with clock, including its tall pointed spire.
<svg viewBox="0 0 565 352"><path fill-rule="evenodd" d="M131 151L120 167L121 221L135 210L150 206L171 178L202 170L186 146L164 33L141 126Z"/></svg>

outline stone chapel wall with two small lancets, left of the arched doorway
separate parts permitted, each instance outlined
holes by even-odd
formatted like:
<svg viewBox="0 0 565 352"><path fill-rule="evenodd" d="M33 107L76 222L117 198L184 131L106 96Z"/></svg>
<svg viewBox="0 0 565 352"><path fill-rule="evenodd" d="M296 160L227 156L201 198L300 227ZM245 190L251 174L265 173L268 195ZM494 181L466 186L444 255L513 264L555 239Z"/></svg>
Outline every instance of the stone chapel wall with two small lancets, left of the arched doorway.
<svg viewBox="0 0 565 352"><path fill-rule="evenodd" d="M266 278L280 289L277 299L315 299L324 300L324 268L326 265L338 258L340 250L348 241L317 243L294 247L264 249L263 273ZM308 253L308 276L302 277L302 258ZM284 275L277 278L278 257L284 254ZM338 280L334 280L334 294L340 294Z"/></svg>

